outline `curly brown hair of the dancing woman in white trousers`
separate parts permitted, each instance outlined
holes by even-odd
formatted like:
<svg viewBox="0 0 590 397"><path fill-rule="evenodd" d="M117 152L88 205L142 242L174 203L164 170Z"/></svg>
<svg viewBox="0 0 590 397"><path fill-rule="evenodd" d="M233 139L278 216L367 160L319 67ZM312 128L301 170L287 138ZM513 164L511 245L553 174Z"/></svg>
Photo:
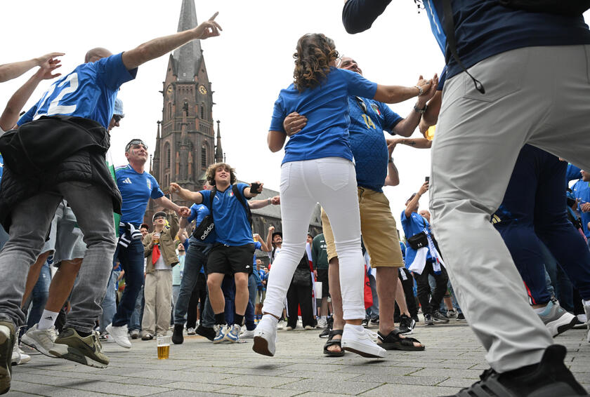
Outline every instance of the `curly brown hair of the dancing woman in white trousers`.
<svg viewBox="0 0 590 397"><path fill-rule="evenodd" d="M297 41L295 71L293 72L294 86L303 92L306 88L314 88L326 79L329 64L338 58L338 51L334 40L321 33L309 33L301 36Z"/></svg>

